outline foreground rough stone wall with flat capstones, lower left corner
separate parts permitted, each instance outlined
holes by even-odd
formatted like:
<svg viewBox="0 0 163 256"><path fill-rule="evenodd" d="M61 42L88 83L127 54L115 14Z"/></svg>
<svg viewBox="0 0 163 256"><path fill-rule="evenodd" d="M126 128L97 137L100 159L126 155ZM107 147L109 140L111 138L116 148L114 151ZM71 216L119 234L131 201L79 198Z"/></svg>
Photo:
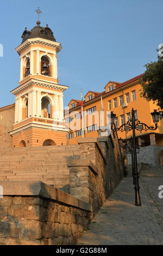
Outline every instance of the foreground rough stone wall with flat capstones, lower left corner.
<svg viewBox="0 0 163 256"><path fill-rule="evenodd" d="M0 245L72 245L91 206L42 182L2 181Z"/></svg>

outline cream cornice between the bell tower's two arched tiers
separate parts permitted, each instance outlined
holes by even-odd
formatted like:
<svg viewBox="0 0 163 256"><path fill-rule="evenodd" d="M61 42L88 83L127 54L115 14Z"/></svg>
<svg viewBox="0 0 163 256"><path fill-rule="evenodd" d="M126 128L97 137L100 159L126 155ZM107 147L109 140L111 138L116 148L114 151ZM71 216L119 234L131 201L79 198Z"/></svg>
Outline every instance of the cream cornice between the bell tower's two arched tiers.
<svg viewBox="0 0 163 256"><path fill-rule="evenodd" d="M22 92L24 89L27 89L30 86L41 86L45 88L55 89L55 90L61 90L62 92L68 88L68 86L62 86L60 84L54 84L50 82L45 82L37 79L30 79L28 82L23 83L21 86L18 86L14 90L11 90L10 93L16 95L17 93Z"/></svg>

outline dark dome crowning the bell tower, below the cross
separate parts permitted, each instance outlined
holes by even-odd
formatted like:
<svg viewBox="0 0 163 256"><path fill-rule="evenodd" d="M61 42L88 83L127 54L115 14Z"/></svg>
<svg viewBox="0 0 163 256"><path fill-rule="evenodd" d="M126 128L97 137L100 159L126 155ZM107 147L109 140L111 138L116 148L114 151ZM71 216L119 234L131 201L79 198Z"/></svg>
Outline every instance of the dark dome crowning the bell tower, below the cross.
<svg viewBox="0 0 163 256"><path fill-rule="evenodd" d="M32 28L30 31L27 31L27 28L25 28L22 38L22 42L30 38L44 38L56 42L52 30L48 27L48 25L46 25L45 28L41 27L40 21L37 21L37 26Z"/></svg>

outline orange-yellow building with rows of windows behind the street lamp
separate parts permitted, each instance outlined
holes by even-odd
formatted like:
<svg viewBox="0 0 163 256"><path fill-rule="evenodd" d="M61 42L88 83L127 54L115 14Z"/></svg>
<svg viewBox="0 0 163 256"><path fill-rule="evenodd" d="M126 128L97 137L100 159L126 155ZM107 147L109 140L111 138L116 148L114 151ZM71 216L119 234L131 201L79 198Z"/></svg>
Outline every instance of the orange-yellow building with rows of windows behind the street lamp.
<svg viewBox="0 0 163 256"><path fill-rule="evenodd" d="M100 126L108 123L108 114L116 114L115 125L120 127L131 117L131 109L135 110L135 118L148 126L154 125L151 112L158 109L155 103L140 96L142 75L131 78L124 83L109 81L102 93L89 91L83 101L84 134L82 134L81 101L71 100L69 109L65 111L66 126L70 127L69 143L76 144L78 137L97 137ZM103 113L103 114L102 114ZM102 118L103 115L103 118ZM92 122L92 123L91 123ZM132 131L118 131L118 137L130 139ZM163 119L155 131L136 131L139 145L163 145ZM142 143L143 141L143 143Z"/></svg>

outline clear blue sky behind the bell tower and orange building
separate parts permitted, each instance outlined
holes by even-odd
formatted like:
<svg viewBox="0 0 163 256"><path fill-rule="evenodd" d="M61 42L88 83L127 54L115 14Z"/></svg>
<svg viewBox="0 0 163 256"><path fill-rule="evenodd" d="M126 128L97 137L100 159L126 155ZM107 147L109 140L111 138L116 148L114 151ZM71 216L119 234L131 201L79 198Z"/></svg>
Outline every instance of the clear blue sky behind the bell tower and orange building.
<svg viewBox="0 0 163 256"><path fill-rule="evenodd" d="M88 90L102 92L109 80L124 82L142 74L146 63L157 59L163 42L162 0L5 0L0 5L0 107L14 103L11 89L18 86L24 27L36 25L40 7L41 25L53 30L61 42L58 77L65 91L65 106Z"/></svg>

